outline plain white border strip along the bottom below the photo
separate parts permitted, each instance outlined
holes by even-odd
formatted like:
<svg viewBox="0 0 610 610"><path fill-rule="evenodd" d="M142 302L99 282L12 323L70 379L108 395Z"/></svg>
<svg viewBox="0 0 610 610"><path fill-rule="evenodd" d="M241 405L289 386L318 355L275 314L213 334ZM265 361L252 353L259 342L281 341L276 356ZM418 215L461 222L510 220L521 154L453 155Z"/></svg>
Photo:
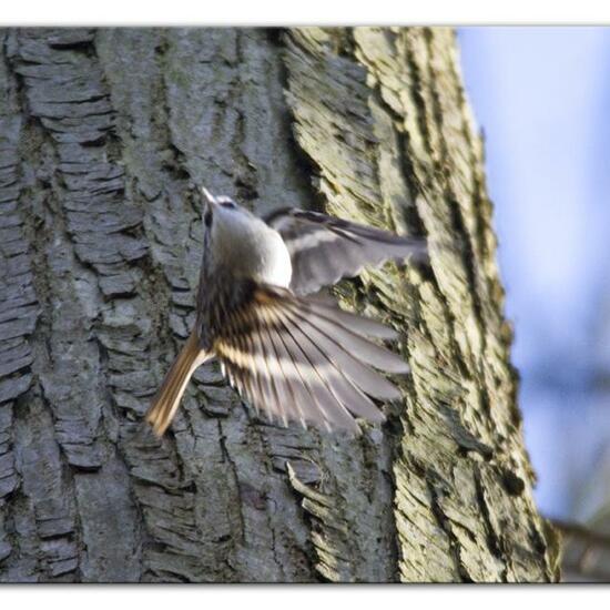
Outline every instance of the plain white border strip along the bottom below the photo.
<svg viewBox="0 0 610 610"><path fill-rule="evenodd" d="M2 606L39 602L45 610L172 608L206 610L323 610L349 608L451 608L451 610L526 610L573 608L607 599L608 587L587 586L21 586L0 587ZM578 596L578 597L577 597ZM492 604L492 606L491 606Z"/></svg>

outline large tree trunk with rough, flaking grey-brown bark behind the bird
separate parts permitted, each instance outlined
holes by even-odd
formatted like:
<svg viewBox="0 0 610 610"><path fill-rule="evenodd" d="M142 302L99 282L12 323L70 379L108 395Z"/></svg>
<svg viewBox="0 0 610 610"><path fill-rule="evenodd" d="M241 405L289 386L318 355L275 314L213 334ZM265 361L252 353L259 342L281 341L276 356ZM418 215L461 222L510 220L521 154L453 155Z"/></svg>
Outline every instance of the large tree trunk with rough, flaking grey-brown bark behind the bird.
<svg viewBox="0 0 610 610"><path fill-rule="evenodd" d="M491 205L446 29L1 33L0 580L548 581ZM193 184L426 235L338 289L413 375L358 439L257 419L187 336Z"/></svg>

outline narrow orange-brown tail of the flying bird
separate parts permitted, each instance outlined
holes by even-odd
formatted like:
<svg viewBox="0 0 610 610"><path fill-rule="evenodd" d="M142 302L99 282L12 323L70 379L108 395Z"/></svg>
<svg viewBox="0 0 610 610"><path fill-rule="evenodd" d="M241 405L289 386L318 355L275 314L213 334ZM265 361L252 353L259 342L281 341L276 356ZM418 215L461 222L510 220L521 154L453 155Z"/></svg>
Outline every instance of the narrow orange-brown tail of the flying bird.
<svg viewBox="0 0 610 610"><path fill-rule="evenodd" d="M167 429L191 376L210 357L211 354L201 348L197 335L193 331L165 375L146 413L145 419L152 425L155 435L162 436Z"/></svg>

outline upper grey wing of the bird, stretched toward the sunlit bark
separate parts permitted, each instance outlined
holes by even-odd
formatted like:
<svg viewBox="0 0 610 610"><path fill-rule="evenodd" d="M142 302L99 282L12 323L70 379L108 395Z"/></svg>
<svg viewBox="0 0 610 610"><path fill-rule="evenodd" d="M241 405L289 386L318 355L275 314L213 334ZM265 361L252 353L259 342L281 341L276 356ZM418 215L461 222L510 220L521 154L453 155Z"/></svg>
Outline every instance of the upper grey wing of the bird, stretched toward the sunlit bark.
<svg viewBox="0 0 610 610"><path fill-rule="evenodd" d="M265 218L283 237L293 265L291 288L309 294L342 277L354 277L365 266L388 260L426 258L424 240L295 209L283 209Z"/></svg>

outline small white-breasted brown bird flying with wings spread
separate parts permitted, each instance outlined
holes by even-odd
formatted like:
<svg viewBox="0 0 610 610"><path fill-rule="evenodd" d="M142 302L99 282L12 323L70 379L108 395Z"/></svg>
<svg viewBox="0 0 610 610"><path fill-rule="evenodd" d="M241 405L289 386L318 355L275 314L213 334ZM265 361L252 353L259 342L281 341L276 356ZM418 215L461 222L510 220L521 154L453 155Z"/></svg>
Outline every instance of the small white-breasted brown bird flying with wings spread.
<svg viewBox="0 0 610 610"><path fill-rule="evenodd" d="M357 417L384 421L370 398L400 394L373 367L408 365L372 338L397 333L314 293L368 265L421 260L425 242L289 207L262 220L230 197L202 194L196 322L146 413L154 433L163 435L192 374L214 356L256 413L284 426L358 434Z"/></svg>

